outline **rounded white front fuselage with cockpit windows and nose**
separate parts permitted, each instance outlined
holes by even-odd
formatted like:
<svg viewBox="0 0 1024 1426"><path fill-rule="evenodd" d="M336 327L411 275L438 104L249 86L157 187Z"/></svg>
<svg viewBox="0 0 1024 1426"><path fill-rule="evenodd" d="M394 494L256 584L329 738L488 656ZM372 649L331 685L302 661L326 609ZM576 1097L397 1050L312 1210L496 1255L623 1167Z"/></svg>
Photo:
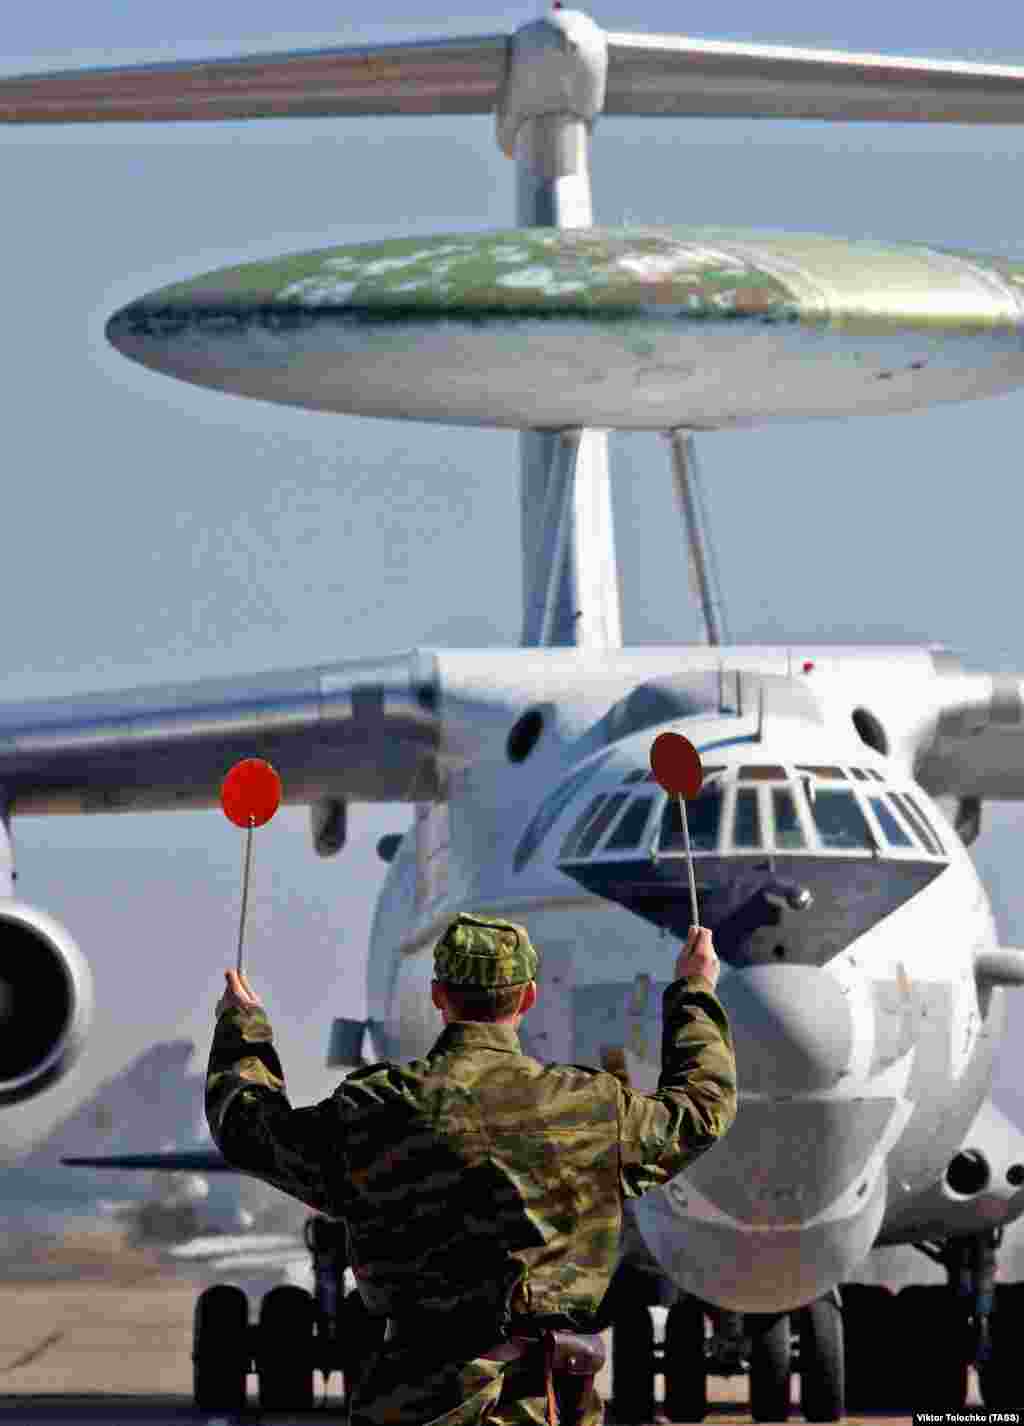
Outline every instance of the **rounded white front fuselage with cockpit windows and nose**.
<svg viewBox="0 0 1024 1426"><path fill-rule="evenodd" d="M940 1175L985 1097L1001 992L973 973L994 944L960 838L898 759L849 719L774 690L695 709L531 769L479 763L422 807L371 944L382 1052L422 1054L439 1020L432 945L449 915L522 920L542 954L528 1052L603 1065L652 1091L662 990L690 923L675 799L649 774L665 727L700 750L689 804L700 920L723 961L736 1040L733 1128L635 1205L682 1288L740 1310L820 1296L863 1261L886 1214Z"/></svg>

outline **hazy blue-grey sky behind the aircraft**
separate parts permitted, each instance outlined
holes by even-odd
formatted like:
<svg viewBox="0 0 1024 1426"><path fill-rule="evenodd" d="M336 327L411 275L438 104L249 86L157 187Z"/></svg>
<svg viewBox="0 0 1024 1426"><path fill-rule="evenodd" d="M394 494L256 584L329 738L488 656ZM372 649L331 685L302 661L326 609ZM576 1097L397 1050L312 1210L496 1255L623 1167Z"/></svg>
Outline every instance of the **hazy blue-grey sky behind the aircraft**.
<svg viewBox="0 0 1024 1426"><path fill-rule="evenodd" d="M319 0L292 0L287 16L268 0L181 0L170 37L165 7L37 3L4 17L4 70L492 33L535 13L456 6L438 24L415 3L381 24L362 0L341 20ZM1024 63L1024 14L994 3L590 13L609 29ZM19 128L0 145L0 697L516 642L518 580L492 575L496 553L518 563L513 436L194 391L103 338L116 307L220 264L511 225L513 170L491 118ZM1010 128L603 120L596 215L1017 252L1023 147ZM978 667L1024 666L1021 416L1014 395L703 439L733 635L924 639ZM666 451L618 436L612 462L628 642L695 639ZM352 809L349 846L327 863L304 811L260 833L250 965L298 1098L329 1082L324 1007L364 1011L374 847L406 821L401 807ZM995 809L978 844L1011 944L1024 944L1020 830L1018 809ZM27 1137L154 1038L184 1032L205 1048L241 844L218 813L36 819L14 831L20 894L66 921L98 995L76 1079L10 1115Z"/></svg>

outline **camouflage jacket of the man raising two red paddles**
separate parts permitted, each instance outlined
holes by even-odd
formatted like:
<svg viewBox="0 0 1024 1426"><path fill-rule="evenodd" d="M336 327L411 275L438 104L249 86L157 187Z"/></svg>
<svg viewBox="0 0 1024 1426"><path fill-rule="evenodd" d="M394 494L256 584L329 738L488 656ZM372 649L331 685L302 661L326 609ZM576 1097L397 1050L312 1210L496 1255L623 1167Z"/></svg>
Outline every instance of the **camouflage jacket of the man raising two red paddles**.
<svg viewBox="0 0 1024 1426"><path fill-rule="evenodd" d="M207 1119L224 1156L348 1226L372 1313L509 1315L585 1330L618 1261L622 1205L736 1115L726 1012L705 980L665 991L655 1094L541 1064L511 1025L455 1021L426 1058L357 1070L295 1109L262 1011L214 1032ZM555 1319L560 1319L560 1323Z"/></svg>

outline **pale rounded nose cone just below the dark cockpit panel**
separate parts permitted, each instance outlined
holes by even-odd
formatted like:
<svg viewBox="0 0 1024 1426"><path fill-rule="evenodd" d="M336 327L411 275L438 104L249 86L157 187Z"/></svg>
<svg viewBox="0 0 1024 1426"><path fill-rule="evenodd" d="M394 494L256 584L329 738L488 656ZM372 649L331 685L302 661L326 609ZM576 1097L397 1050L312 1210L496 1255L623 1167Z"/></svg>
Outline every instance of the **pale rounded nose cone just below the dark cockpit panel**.
<svg viewBox="0 0 1024 1426"><path fill-rule="evenodd" d="M853 1012L829 971L752 965L723 977L719 998L733 1030L740 1094L809 1094L847 1072Z"/></svg>

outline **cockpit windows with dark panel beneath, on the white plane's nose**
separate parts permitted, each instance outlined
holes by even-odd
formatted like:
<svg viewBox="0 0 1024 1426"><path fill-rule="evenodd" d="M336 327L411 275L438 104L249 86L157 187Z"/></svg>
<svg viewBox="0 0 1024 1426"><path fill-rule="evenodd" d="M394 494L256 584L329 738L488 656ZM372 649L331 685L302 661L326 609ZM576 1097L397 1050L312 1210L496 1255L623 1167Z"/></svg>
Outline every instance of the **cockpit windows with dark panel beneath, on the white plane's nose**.
<svg viewBox="0 0 1024 1426"><path fill-rule="evenodd" d="M944 823L921 790L863 761L705 764L683 806L700 914L725 960L824 964L943 873ZM559 871L685 935L679 799L619 761L570 801L555 843Z"/></svg>

